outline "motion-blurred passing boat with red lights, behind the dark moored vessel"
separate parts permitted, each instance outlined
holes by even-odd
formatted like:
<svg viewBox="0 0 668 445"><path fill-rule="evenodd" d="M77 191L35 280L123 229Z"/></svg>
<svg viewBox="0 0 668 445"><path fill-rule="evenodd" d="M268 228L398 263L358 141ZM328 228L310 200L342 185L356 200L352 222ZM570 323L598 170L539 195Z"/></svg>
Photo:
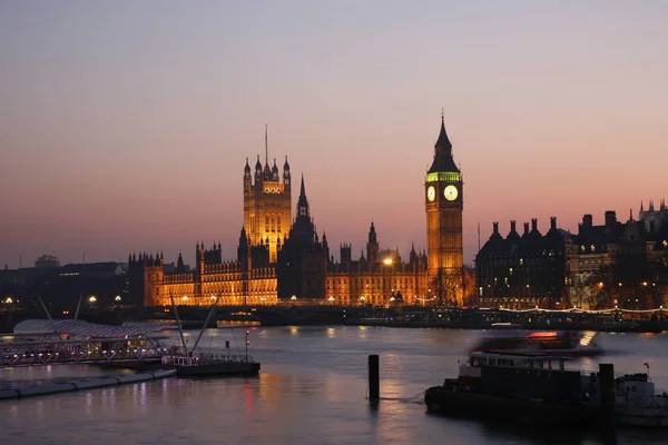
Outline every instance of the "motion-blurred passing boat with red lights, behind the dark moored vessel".
<svg viewBox="0 0 668 445"><path fill-rule="evenodd" d="M471 352L592 357L603 354L595 337L591 330L502 330L482 338Z"/></svg>

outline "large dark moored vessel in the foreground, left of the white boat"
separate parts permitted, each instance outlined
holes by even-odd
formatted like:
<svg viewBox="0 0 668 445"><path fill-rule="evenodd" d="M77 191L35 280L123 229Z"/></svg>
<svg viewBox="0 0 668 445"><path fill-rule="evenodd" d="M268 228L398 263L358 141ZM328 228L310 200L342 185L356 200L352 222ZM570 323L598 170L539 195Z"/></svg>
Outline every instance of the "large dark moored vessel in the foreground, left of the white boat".
<svg viewBox="0 0 668 445"><path fill-rule="evenodd" d="M431 413L454 417L586 426L600 421L566 357L473 352L459 376L424 393Z"/></svg>

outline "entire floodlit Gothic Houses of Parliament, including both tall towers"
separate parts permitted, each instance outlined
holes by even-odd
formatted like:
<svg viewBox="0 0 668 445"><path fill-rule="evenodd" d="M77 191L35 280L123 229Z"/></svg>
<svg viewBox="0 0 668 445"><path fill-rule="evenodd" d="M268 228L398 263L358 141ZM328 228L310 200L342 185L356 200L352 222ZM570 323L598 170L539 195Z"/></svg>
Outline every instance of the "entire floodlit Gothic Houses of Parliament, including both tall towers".
<svg viewBox="0 0 668 445"><path fill-rule="evenodd" d="M406 259L399 249L381 249L371 222L365 248L353 257L342 244L338 261L315 230L304 177L296 215L292 215L292 174L287 157L269 166L266 131L264 165L244 167L244 224L237 256L224 260L218 243L196 244L196 264L166 265L161 253L131 254L129 291L146 306L274 305L308 301L331 305L462 305L465 276L462 248L463 179L452 155L444 119L424 181L426 251L413 247ZM471 286L472 287L472 286ZM473 290L473 289L471 289Z"/></svg>

